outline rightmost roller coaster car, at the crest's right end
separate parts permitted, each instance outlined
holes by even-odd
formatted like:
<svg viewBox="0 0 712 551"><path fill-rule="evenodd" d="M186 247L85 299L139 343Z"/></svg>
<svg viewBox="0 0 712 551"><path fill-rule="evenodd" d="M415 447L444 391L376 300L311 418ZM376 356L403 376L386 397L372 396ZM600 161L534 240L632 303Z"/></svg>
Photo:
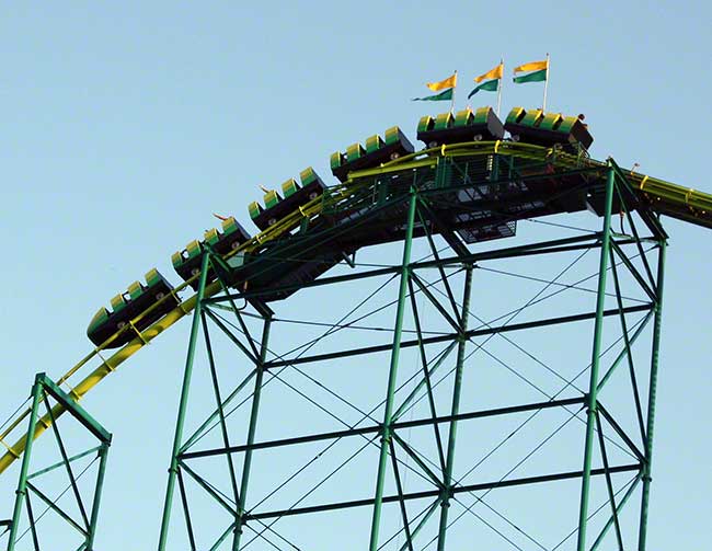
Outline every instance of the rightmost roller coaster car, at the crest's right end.
<svg viewBox="0 0 712 551"><path fill-rule="evenodd" d="M513 138L537 146L561 144L569 151L577 146L588 150L594 138L587 126L578 117L565 117L560 113L544 113L541 110L526 111L515 107L509 112L504 125Z"/></svg>

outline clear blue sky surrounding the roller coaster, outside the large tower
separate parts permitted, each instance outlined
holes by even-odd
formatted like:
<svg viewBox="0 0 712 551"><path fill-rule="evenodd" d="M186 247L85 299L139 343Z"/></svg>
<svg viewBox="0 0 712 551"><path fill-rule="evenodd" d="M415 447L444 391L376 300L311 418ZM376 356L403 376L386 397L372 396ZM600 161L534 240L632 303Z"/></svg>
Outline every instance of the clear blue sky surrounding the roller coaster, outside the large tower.
<svg viewBox="0 0 712 551"><path fill-rule="evenodd" d="M463 107L468 82L501 57L509 74L550 53L548 107L586 114L594 157L712 192L707 2L244 4L3 8L3 418L36 371L58 376L90 349L85 326L113 295L153 266L176 282L171 253L215 226L211 213L249 226L259 185L307 165L325 177L332 151L394 124L414 140L418 117L441 105L409 99L453 69ZM505 113L539 105L540 84L508 82ZM712 233L666 228L648 549L704 549ZM85 400L115 435L97 549L156 546L187 329ZM0 518L15 475L0 481Z"/></svg>

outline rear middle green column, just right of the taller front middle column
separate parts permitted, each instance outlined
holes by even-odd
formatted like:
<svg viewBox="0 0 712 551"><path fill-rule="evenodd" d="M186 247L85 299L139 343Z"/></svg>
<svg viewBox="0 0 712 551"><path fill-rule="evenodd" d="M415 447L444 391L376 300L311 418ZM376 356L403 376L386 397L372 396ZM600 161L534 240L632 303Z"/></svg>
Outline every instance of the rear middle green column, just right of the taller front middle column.
<svg viewBox="0 0 712 551"><path fill-rule="evenodd" d="M458 332L458 355L455 365L455 384L452 388L452 409L450 415L453 417L460 413L460 394L462 391L462 368L464 365L464 347L468 342L468 317L470 313L470 290L472 287L472 265L468 265L464 274L464 298L462 299L462 322ZM445 551L445 536L447 533L448 510L452 492L452 467L455 464L455 444L457 440L458 423L450 422L450 434L448 436L447 463L443 473L443 495L440 497L440 527L437 537L438 551Z"/></svg>

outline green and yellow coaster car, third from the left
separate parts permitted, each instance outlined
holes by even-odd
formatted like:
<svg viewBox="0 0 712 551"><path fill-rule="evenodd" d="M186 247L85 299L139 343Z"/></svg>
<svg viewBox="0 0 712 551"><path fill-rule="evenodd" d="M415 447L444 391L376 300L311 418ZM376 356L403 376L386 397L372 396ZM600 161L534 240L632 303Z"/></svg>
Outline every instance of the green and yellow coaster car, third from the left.
<svg viewBox="0 0 712 551"><path fill-rule="evenodd" d="M299 180L301 180L301 185L292 177L282 184L284 198L273 190L265 194L264 207L256 200L250 204L248 207L250 217L257 228L262 231L266 230L277 220L322 195L326 188L311 167L299 173Z"/></svg>

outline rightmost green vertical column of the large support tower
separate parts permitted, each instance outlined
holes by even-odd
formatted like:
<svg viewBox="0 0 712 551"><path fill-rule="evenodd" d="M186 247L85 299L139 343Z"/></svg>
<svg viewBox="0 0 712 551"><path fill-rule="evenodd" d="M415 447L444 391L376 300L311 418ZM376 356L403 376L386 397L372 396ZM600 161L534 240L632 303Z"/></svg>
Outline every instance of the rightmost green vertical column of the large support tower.
<svg viewBox="0 0 712 551"><path fill-rule="evenodd" d="M653 468L653 432L655 428L655 398L657 394L657 368L659 365L661 328L663 323L663 280L665 278L665 241L661 241L657 257L657 296L653 326L653 352L651 357L651 381L647 390L647 429L645 431L645 464L643 466L643 497L641 503L641 526L638 537L639 551L645 551L647 540L647 507L651 496L651 472Z"/></svg>

